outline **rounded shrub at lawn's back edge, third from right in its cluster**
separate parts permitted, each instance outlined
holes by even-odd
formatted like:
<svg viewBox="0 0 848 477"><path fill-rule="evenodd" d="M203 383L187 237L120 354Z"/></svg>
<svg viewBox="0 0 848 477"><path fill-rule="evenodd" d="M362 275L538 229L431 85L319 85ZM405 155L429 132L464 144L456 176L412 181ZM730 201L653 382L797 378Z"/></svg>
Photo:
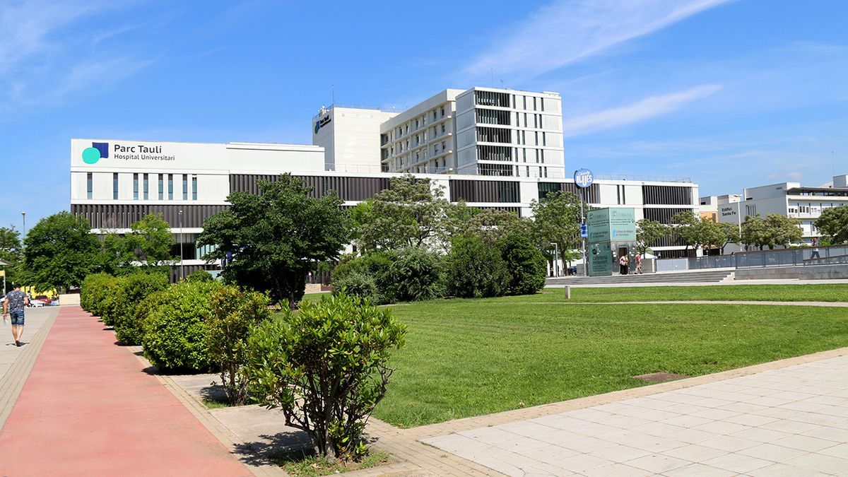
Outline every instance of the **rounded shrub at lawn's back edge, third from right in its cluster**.
<svg viewBox="0 0 848 477"><path fill-rule="evenodd" d="M395 301L429 300L441 296L440 257L420 247L408 247L392 253L388 269L388 298Z"/></svg>

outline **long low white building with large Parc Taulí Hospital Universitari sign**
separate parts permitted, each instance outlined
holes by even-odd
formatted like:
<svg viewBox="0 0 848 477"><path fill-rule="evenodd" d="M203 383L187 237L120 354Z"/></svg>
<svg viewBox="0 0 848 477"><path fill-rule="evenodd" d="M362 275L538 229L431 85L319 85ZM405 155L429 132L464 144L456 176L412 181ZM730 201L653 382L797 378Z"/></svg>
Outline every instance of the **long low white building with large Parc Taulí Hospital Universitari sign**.
<svg viewBox="0 0 848 477"><path fill-rule="evenodd" d="M325 171L324 149L276 143L159 143L114 139L72 139L70 145L70 210L85 217L95 233L126 233L148 213L165 216L179 244L182 272L216 269L195 245L204 219L228 207L237 191L257 192L259 179L273 180L290 172L314 188L316 197L336 191L344 206L358 204L382 189L400 172ZM589 205L633 207L636 220L668 223L682 210L696 211L698 186L688 180L655 182L598 177L578 190L571 178L480 177L420 174L452 202L471 207L510 210L532 216L533 201L552 191L579 193ZM654 250L663 256L683 254L671 239Z"/></svg>

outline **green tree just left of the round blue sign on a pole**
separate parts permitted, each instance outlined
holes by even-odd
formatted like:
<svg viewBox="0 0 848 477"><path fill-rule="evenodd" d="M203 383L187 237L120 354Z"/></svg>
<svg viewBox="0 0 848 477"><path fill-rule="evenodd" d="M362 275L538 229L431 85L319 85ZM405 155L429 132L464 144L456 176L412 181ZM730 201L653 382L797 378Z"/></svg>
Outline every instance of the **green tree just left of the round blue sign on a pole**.
<svg viewBox="0 0 848 477"><path fill-rule="evenodd" d="M577 196L555 191L542 201L530 203L533 210L534 241L541 250L556 244L563 262L580 248L580 203Z"/></svg>

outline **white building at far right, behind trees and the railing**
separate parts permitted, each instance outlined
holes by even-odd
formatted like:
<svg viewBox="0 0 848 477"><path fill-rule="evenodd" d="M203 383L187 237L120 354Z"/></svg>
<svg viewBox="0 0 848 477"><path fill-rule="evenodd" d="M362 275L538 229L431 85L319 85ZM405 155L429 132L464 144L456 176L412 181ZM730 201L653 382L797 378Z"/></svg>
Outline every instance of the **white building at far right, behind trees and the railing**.
<svg viewBox="0 0 848 477"><path fill-rule="evenodd" d="M848 205L848 175L834 176L824 187L802 186L801 182L779 182L755 188L745 188L744 200L719 207L718 222L745 222L746 216L780 214L798 219L803 231L802 241L811 244L818 239L815 222L829 207Z"/></svg>

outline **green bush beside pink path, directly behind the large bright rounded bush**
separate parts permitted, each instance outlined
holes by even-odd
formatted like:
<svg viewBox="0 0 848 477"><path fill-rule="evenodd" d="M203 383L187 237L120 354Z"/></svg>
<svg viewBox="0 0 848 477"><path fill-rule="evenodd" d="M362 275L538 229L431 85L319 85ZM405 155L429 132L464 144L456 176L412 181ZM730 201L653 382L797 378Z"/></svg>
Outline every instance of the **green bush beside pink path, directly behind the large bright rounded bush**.
<svg viewBox="0 0 848 477"><path fill-rule="evenodd" d="M118 340L126 345L141 345L143 330L135 320L139 304L149 295L168 288L168 276L162 273L132 273L117 281L114 303L110 303L111 321Z"/></svg>

